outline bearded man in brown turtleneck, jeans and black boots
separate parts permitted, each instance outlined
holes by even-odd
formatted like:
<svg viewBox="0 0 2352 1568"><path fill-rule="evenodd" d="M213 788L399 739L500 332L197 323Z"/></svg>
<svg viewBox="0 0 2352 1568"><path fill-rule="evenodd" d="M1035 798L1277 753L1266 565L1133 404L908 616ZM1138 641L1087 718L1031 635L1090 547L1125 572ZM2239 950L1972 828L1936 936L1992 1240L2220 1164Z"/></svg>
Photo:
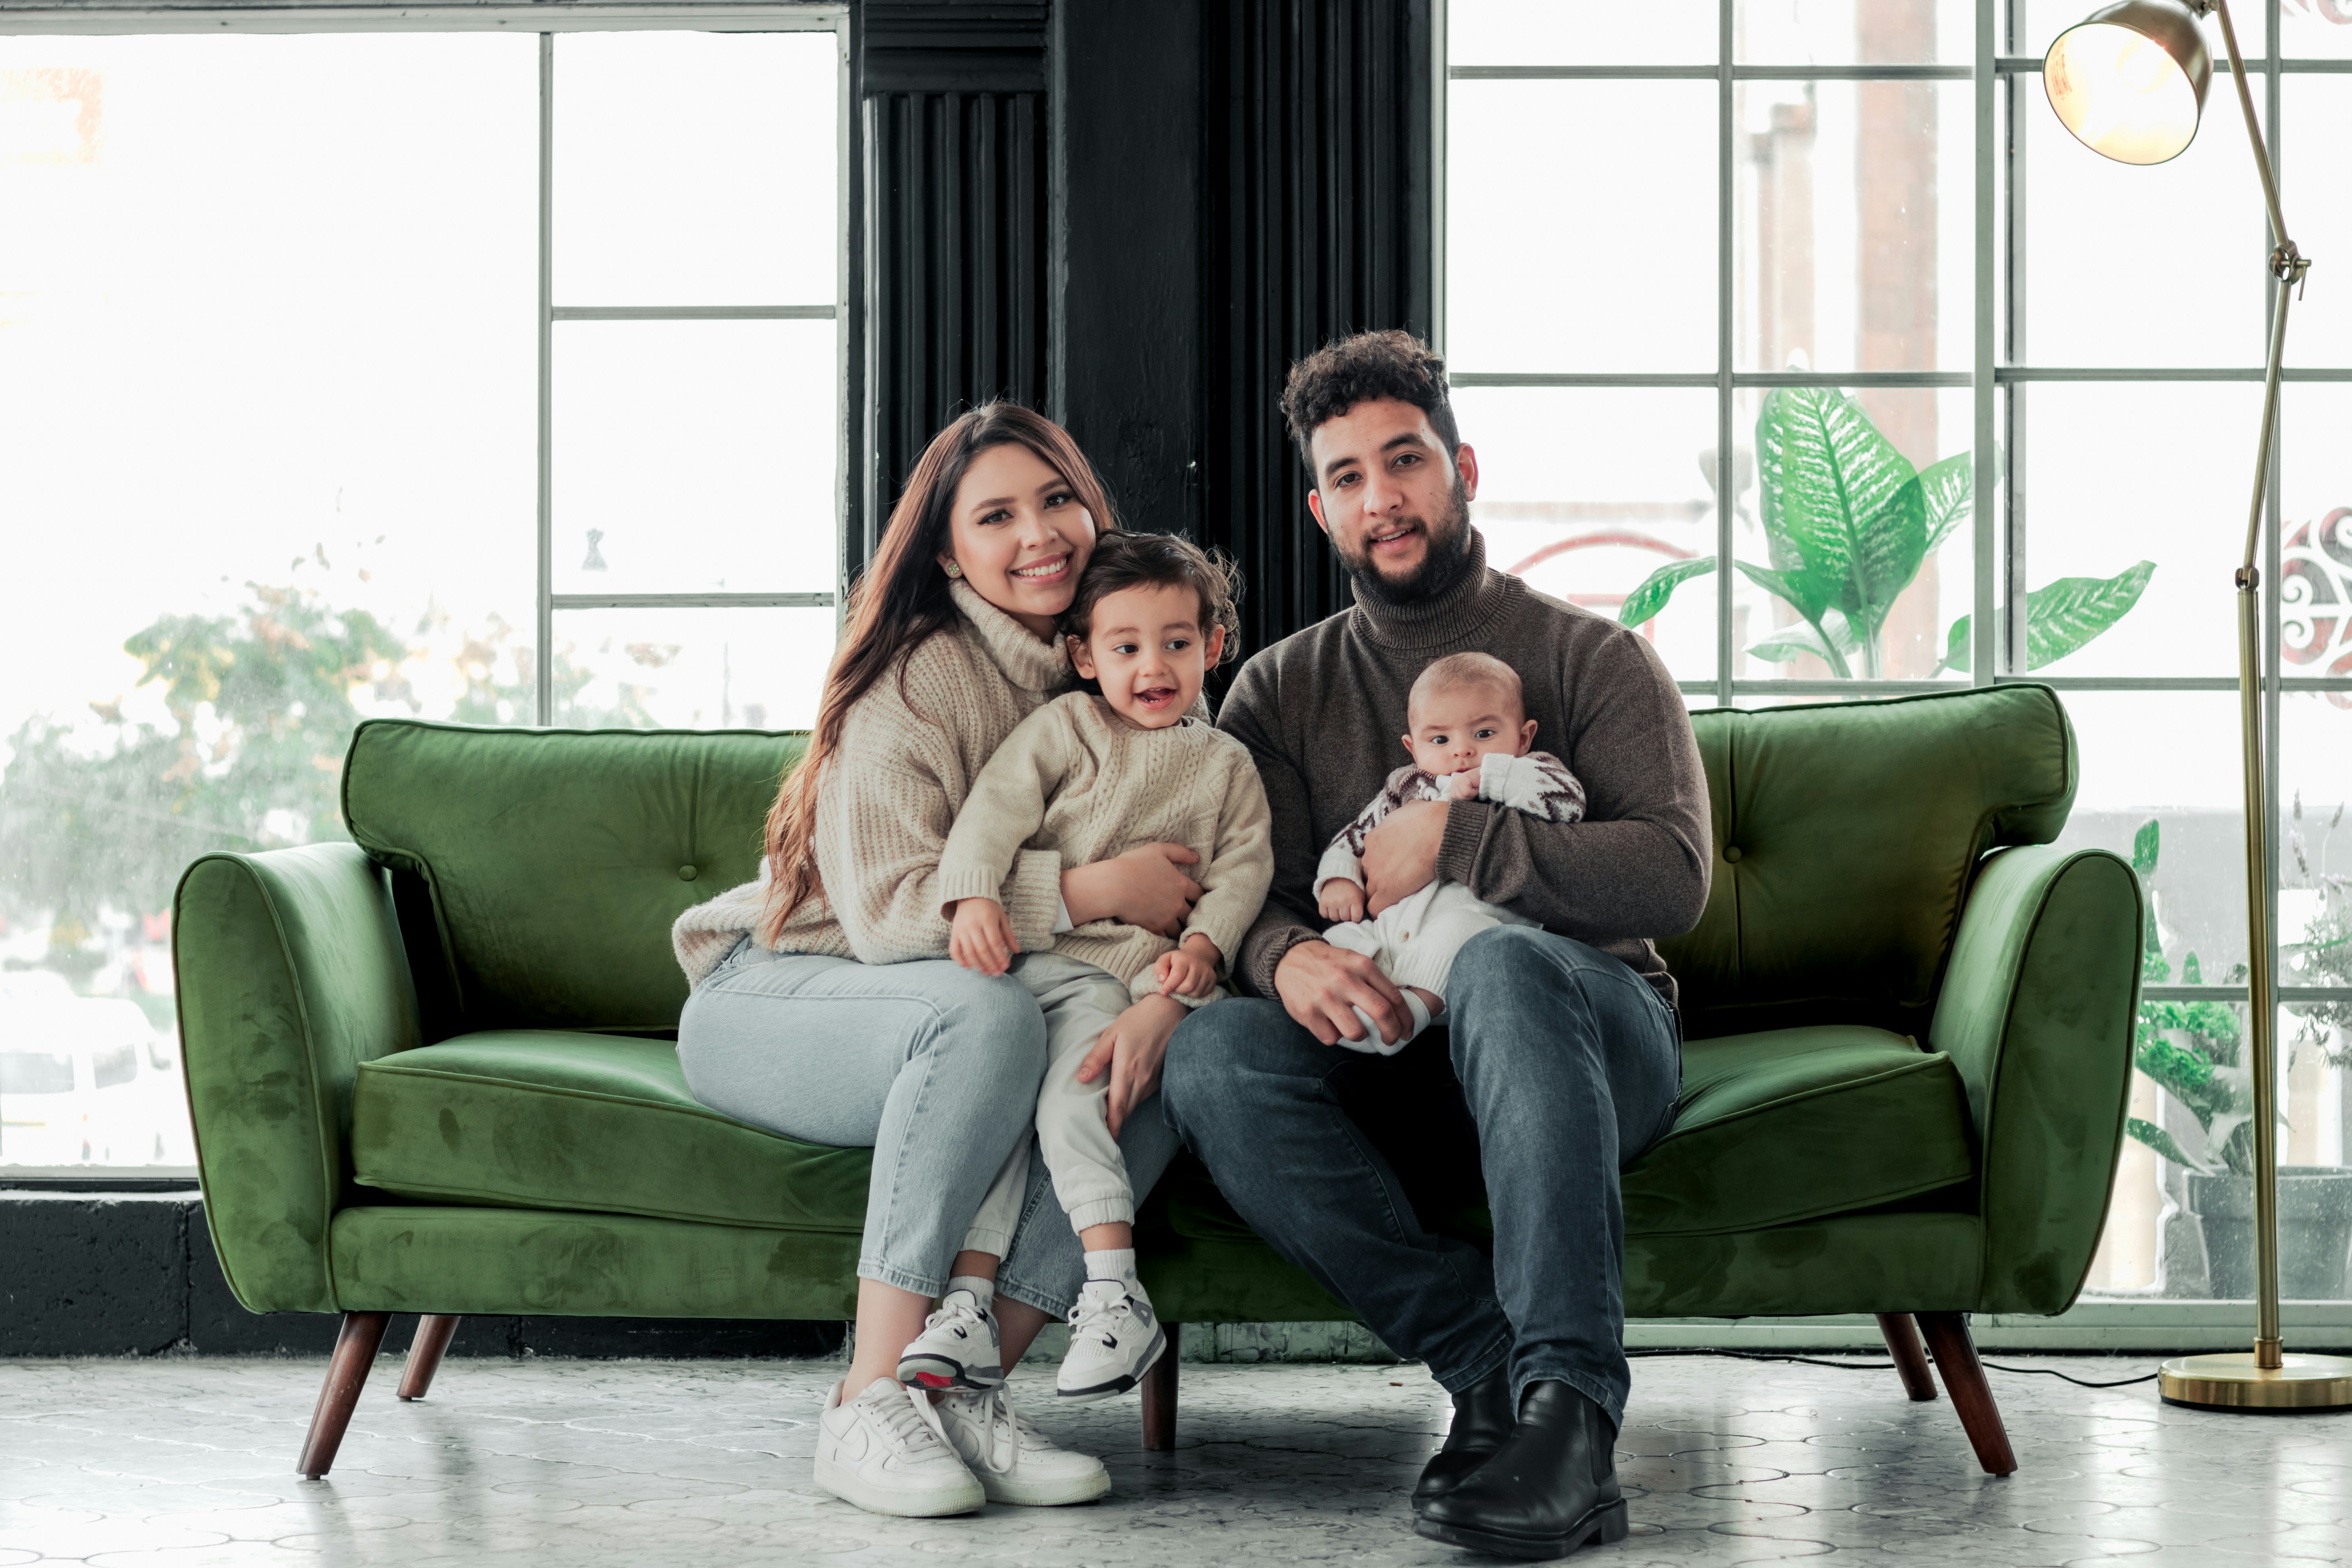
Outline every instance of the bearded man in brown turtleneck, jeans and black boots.
<svg viewBox="0 0 2352 1568"><path fill-rule="evenodd" d="M1414 1528L1564 1556L1625 1535L1618 1171L1668 1131L1679 1091L1675 980L1649 938L1691 929L1708 898L1698 743L1644 637L1486 564L1470 527L1477 454L1421 341L1331 343L1291 369L1282 409L1355 607L1251 658L1225 698L1218 724L1249 745L1272 804L1275 886L1235 957L1258 999L1176 1032L1167 1117L1275 1251L1451 1392ZM1404 759L1414 677L1458 651L1519 672L1534 745L1583 780L1588 809L1548 823L1416 802L1371 832L1371 912L1439 877L1541 929L1475 936L1446 1027L1367 1056L1336 1044L1364 1037L1357 1009L1397 1039L1406 1006L1369 957L1322 940L1315 863ZM1381 1154L1399 1140L1463 1178L1477 1161L1491 1262L1423 1229ZM1449 1211L1418 1197L1421 1215Z"/></svg>

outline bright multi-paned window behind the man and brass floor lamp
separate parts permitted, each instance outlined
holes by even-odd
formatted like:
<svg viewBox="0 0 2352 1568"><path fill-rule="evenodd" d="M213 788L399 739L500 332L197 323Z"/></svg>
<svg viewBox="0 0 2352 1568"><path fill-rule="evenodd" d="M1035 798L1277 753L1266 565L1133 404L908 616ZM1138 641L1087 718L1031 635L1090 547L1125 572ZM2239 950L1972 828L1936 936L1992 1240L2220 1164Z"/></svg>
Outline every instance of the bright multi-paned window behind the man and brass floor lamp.
<svg viewBox="0 0 2352 1568"><path fill-rule="evenodd" d="M1442 343L1494 562L1639 621L1693 705L2058 686L2084 743L2065 842L2138 856L2157 907L2143 1037L2190 1044L2234 1034L2246 997L2230 574L2270 235L2225 73L2161 169L2065 134L2042 54L2089 9L1449 0ZM2305 254L2352 256L2331 153L2352 129L2352 12L2234 14L2288 221ZM2343 1166L2352 296L2321 287L2288 329L2265 691L2281 1164ZM1712 569L1769 564L1792 421L1945 487L1940 536L1851 623ZM2117 461L2150 449L2171 463ZM2145 1074L2131 1114L2150 1138L2126 1143L2091 1291L2241 1293L2154 1145L2220 1152Z"/></svg>

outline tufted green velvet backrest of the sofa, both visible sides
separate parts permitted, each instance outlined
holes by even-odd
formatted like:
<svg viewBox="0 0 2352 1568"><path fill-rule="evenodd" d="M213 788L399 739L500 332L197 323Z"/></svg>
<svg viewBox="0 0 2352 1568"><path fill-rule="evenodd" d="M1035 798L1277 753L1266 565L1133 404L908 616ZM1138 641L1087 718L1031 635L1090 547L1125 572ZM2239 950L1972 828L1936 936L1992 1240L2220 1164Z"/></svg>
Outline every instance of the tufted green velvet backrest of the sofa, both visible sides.
<svg viewBox="0 0 2352 1568"><path fill-rule="evenodd" d="M1924 1034L1976 863L2046 844L2074 736L2046 686L1691 715L1715 884L1661 943L1693 1039L1804 1023ZM670 922L757 875L802 736L374 719L343 820L393 870L426 1039L668 1030Z"/></svg>

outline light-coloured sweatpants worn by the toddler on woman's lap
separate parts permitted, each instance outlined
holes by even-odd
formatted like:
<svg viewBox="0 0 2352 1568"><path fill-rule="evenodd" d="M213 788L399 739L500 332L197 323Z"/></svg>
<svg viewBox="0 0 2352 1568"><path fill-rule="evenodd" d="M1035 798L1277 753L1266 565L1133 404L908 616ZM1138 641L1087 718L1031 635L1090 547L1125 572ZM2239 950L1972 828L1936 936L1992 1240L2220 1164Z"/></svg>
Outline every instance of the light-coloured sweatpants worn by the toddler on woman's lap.
<svg viewBox="0 0 2352 1568"><path fill-rule="evenodd" d="M1136 1190L1127 1180L1127 1159L1110 1135L1110 1074L1091 1084L1077 1081L1077 1065L1103 1037L1103 1030L1129 1009L1127 983L1094 964L1080 964L1058 952L1023 952L1014 959L1014 978L1044 1009L1044 1084L1037 1088L1037 1152L1054 1173L1054 1197L1070 1215L1070 1229L1089 1225L1134 1225ZM971 1218L964 1246L1004 1255L1021 1201L1028 1197L1030 1140L1023 1138L1004 1159L997 1180ZM1002 1244L997 1244L1002 1239Z"/></svg>

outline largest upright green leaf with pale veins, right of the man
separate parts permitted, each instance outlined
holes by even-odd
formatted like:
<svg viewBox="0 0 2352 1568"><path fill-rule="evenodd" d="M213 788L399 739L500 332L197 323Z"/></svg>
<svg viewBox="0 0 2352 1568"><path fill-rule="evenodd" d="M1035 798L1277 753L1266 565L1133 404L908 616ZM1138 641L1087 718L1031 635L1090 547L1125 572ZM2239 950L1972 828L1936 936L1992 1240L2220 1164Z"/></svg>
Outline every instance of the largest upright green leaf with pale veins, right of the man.
<svg viewBox="0 0 2352 1568"><path fill-rule="evenodd" d="M1837 609L1872 635L1926 557L1917 470L1837 388L1773 388L1757 414L1757 489L1773 569L1806 621Z"/></svg>

